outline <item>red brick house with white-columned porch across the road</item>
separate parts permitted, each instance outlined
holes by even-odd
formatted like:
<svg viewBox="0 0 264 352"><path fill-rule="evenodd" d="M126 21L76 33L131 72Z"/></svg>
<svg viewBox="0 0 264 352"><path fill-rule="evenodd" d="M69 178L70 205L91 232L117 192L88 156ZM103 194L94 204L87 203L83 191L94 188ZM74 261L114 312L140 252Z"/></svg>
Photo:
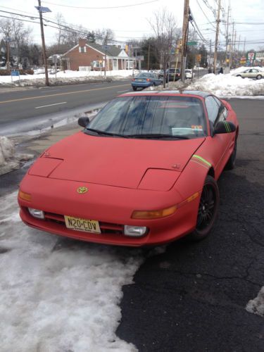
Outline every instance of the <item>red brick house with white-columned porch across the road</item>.
<svg viewBox="0 0 264 352"><path fill-rule="evenodd" d="M105 60L106 55L106 60ZM79 39L79 44L63 54L68 70L127 70L132 68L133 58L124 49L108 45L107 50L102 45Z"/></svg>

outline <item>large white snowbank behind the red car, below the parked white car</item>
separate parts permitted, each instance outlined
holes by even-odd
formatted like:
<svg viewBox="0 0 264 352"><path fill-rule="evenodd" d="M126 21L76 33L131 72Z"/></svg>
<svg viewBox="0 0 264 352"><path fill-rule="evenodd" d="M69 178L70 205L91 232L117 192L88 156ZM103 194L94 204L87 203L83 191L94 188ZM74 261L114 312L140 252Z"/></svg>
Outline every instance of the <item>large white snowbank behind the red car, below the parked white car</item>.
<svg viewBox="0 0 264 352"><path fill-rule="evenodd" d="M199 80L189 84L187 89L201 90L216 96L264 96L264 80L228 75L204 75Z"/></svg>

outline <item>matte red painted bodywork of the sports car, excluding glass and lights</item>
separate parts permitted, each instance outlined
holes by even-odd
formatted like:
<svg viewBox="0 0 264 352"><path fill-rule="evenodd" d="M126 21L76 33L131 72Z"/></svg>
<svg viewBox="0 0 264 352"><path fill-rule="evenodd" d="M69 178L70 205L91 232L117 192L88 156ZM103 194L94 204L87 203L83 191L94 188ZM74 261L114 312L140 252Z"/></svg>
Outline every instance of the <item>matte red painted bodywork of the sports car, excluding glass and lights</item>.
<svg viewBox="0 0 264 352"><path fill-rule="evenodd" d="M201 96L196 98L203 101ZM222 103L229 111L227 120L238 127L232 107ZM125 246L173 241L196 227L199 197L166 218L136 220L131 218L133 211L168 208L201 191L209 168L191 161L194 154L212 165L217 180L232 153L235 137L236 132L170 141L73 134L51 146L48 157L43 153L27 172L20 189L31 194L32 201L18 198L20 217L29 226L83 241ZM77 193L78 187L87 187L87 193ZM141 238L125 237L118 231L77 232L68 230L63 222L33 218L27 207L58 214L54 218L70 215L119 229L123 225L146 226L149 231Z"/></svg>

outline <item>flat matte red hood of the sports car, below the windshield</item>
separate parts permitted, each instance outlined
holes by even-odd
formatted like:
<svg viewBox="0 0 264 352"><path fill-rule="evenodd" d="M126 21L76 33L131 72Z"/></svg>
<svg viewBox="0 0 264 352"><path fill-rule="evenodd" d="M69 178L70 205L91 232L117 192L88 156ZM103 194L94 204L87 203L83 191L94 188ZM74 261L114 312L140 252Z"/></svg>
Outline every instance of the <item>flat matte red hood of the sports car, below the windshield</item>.
<svg viewBox="0 0 264 352"><path fill-rule="evenodd" d="M148 183L158 179L164 182L158 190L167 190L204 140L124 139L80 132L51 146L29 173L134 189L149 189Z"/></svg>

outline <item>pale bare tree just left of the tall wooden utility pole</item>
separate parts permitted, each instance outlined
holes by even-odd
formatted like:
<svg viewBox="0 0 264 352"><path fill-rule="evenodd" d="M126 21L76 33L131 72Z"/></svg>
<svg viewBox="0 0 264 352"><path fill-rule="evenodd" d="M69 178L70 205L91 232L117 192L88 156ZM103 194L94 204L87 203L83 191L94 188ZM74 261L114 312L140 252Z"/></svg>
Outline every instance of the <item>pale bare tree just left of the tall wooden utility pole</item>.
<svg viewBox="0 0 264 352"><path fill-rule="evenodd" d="M170 63L172 46L175 43L177 30L175 18L166 8L154 13L149 25L155 33L156 49L160 56L160 63L163 68L163 87L165 87L165 70Z"/></svg>

